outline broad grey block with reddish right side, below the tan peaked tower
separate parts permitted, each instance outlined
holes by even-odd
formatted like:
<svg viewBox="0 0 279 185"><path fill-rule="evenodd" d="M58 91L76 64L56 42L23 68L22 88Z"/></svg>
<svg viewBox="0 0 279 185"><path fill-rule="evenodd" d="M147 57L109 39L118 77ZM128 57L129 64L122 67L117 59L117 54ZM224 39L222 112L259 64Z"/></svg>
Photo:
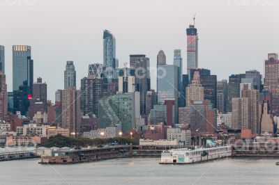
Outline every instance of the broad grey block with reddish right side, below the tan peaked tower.
<svg viewBox="0 0 279 185"><path fill-rule="evenodd" d="M213 134L217 127L217 111L209 100L191 101L192 106L179 109L179 115L185 120L180 122L189 124L193 133Z"/></svg>

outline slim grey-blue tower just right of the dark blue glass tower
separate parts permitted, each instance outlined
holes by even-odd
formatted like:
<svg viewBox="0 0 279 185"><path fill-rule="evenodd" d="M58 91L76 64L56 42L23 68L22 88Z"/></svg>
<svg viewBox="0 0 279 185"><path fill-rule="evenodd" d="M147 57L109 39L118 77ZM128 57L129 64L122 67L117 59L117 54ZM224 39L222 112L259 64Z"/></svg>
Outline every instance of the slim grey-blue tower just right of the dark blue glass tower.
<svg viewBox="0 0 279 185"><path fill-rule="evenodd" d="M217 109L220 113L226 113L227 105L227 80L217 81Z"/></svg>

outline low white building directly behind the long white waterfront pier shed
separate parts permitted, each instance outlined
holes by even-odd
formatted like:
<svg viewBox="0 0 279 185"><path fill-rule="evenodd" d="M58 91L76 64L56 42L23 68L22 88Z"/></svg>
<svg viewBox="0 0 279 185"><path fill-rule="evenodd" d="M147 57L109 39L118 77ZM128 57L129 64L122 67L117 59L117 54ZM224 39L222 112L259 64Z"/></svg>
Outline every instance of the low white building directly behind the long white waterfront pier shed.
<svg viewBox="0 0 279 185"><path fill-rule="evenodd" d="M177 140L180 144L190 146L191 131L180 128L167 128L167 140Z"/></svg>

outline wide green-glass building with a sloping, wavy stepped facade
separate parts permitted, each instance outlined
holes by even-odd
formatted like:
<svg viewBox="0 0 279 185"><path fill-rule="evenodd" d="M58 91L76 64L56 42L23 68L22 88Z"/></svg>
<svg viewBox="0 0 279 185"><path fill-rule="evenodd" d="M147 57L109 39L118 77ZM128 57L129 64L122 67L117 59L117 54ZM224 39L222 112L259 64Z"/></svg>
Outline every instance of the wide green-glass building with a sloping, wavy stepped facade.
<svg viewBox="0 0 279 185"><path fill-rule="evenodd" d="M140 93L118 93L99 101L99 128L121 125L123 133L135 129L140 119Z"/></svg>

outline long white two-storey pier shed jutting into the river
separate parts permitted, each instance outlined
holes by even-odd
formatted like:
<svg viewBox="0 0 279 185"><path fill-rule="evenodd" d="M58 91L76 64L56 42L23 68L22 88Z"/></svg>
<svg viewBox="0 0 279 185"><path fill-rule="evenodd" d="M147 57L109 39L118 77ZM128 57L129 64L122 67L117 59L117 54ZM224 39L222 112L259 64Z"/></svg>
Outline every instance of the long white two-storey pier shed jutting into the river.
<svg viewBox="0 0 279 185"><path fill-rule="evenodd" d="M160 164L188 164L210 161L214 159L232 156L232 147L220 146L209 148L188 148L165 150L161 154Z"/></svg>

